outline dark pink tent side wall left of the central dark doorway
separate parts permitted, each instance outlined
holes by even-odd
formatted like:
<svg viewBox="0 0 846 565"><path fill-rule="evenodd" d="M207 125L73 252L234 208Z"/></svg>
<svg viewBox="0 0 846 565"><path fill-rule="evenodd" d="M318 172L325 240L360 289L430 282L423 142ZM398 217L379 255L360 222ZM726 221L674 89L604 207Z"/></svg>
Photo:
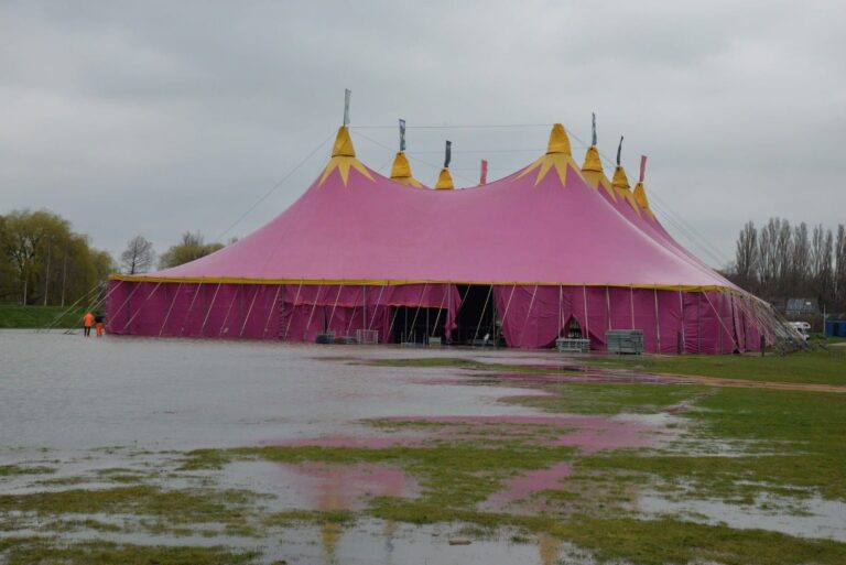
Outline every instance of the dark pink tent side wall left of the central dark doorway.
<svg viewBox="0 0 846 565"><path fill-rule="evenodd" d="M313 341L375 329L391 338L394 306L443 308L455 327L454 285L343 286L111 281L106 303L112 334Z"/></svg>

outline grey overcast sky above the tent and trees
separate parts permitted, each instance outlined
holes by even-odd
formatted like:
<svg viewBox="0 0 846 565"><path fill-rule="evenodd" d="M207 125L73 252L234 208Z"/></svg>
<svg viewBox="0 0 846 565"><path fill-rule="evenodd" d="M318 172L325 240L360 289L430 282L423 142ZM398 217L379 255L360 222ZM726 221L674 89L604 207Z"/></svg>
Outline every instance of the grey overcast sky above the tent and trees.
<svg viewBox="0 0 846 565"><path fill-rule="evenodd" d="M649 155L659 217L712 264L749 219L846 221L843 0L350 4L4 0L0 214L48 208L116 256L242 237L318 174L350 88L359 157L387 173L404 118L427 184L444 139L471 185L482 157L533 161L545 124L588 140L595 111L600 151L623 134L630 177Z"/></svg>

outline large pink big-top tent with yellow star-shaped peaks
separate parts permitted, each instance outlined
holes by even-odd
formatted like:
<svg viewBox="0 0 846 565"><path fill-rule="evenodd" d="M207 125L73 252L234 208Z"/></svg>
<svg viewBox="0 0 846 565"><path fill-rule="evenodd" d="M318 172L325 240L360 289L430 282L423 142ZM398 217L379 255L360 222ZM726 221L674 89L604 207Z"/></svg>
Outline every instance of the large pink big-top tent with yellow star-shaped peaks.
<svg viewBox="0 0 846 565"><path fill-rule="evenodd" d="M583 167L556 124L547 152L500 181L430 189L403 152L395 178L356 159L341 127L332 159L290 208L191 263L115 275L113 334L313 341L482 336L547 347L566 335L605 347L640 329L647 351L730 352L772 338L758 298L683 249L621 166L596 146ZM452 187L445 166L438 180ZM449 237L445 237L448 232Z"/></svg>

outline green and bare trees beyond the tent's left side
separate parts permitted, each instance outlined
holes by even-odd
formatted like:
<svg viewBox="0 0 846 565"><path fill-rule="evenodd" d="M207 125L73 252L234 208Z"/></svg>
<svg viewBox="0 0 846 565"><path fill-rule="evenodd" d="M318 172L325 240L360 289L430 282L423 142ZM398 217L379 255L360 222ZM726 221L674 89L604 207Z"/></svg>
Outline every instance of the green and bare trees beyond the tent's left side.
<svg viewBox="0 0 846 565"><path fill-rule="evenodd" d="M75 232L57 214L13 210L0 215L0 303L69 306L117 270L140 274L156 264L166 269L223 247L206 243L199 232L186 231L156 261L153 245L137 236L116 264L108 251L91 247L88 236Z"/></svg>

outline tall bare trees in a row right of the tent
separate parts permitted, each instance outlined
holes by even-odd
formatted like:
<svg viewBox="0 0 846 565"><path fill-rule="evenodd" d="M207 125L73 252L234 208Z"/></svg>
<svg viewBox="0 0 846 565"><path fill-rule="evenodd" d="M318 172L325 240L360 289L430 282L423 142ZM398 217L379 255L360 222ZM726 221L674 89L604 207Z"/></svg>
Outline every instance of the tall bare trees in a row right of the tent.
<svg viewBox="0 0 846 565"><path fill-rule="evenodd" d="M728 278L769 301L816 298L828 312L846 312L846 228L837 230L783 218L756 228L748 221L737 238Z"/></svg>

